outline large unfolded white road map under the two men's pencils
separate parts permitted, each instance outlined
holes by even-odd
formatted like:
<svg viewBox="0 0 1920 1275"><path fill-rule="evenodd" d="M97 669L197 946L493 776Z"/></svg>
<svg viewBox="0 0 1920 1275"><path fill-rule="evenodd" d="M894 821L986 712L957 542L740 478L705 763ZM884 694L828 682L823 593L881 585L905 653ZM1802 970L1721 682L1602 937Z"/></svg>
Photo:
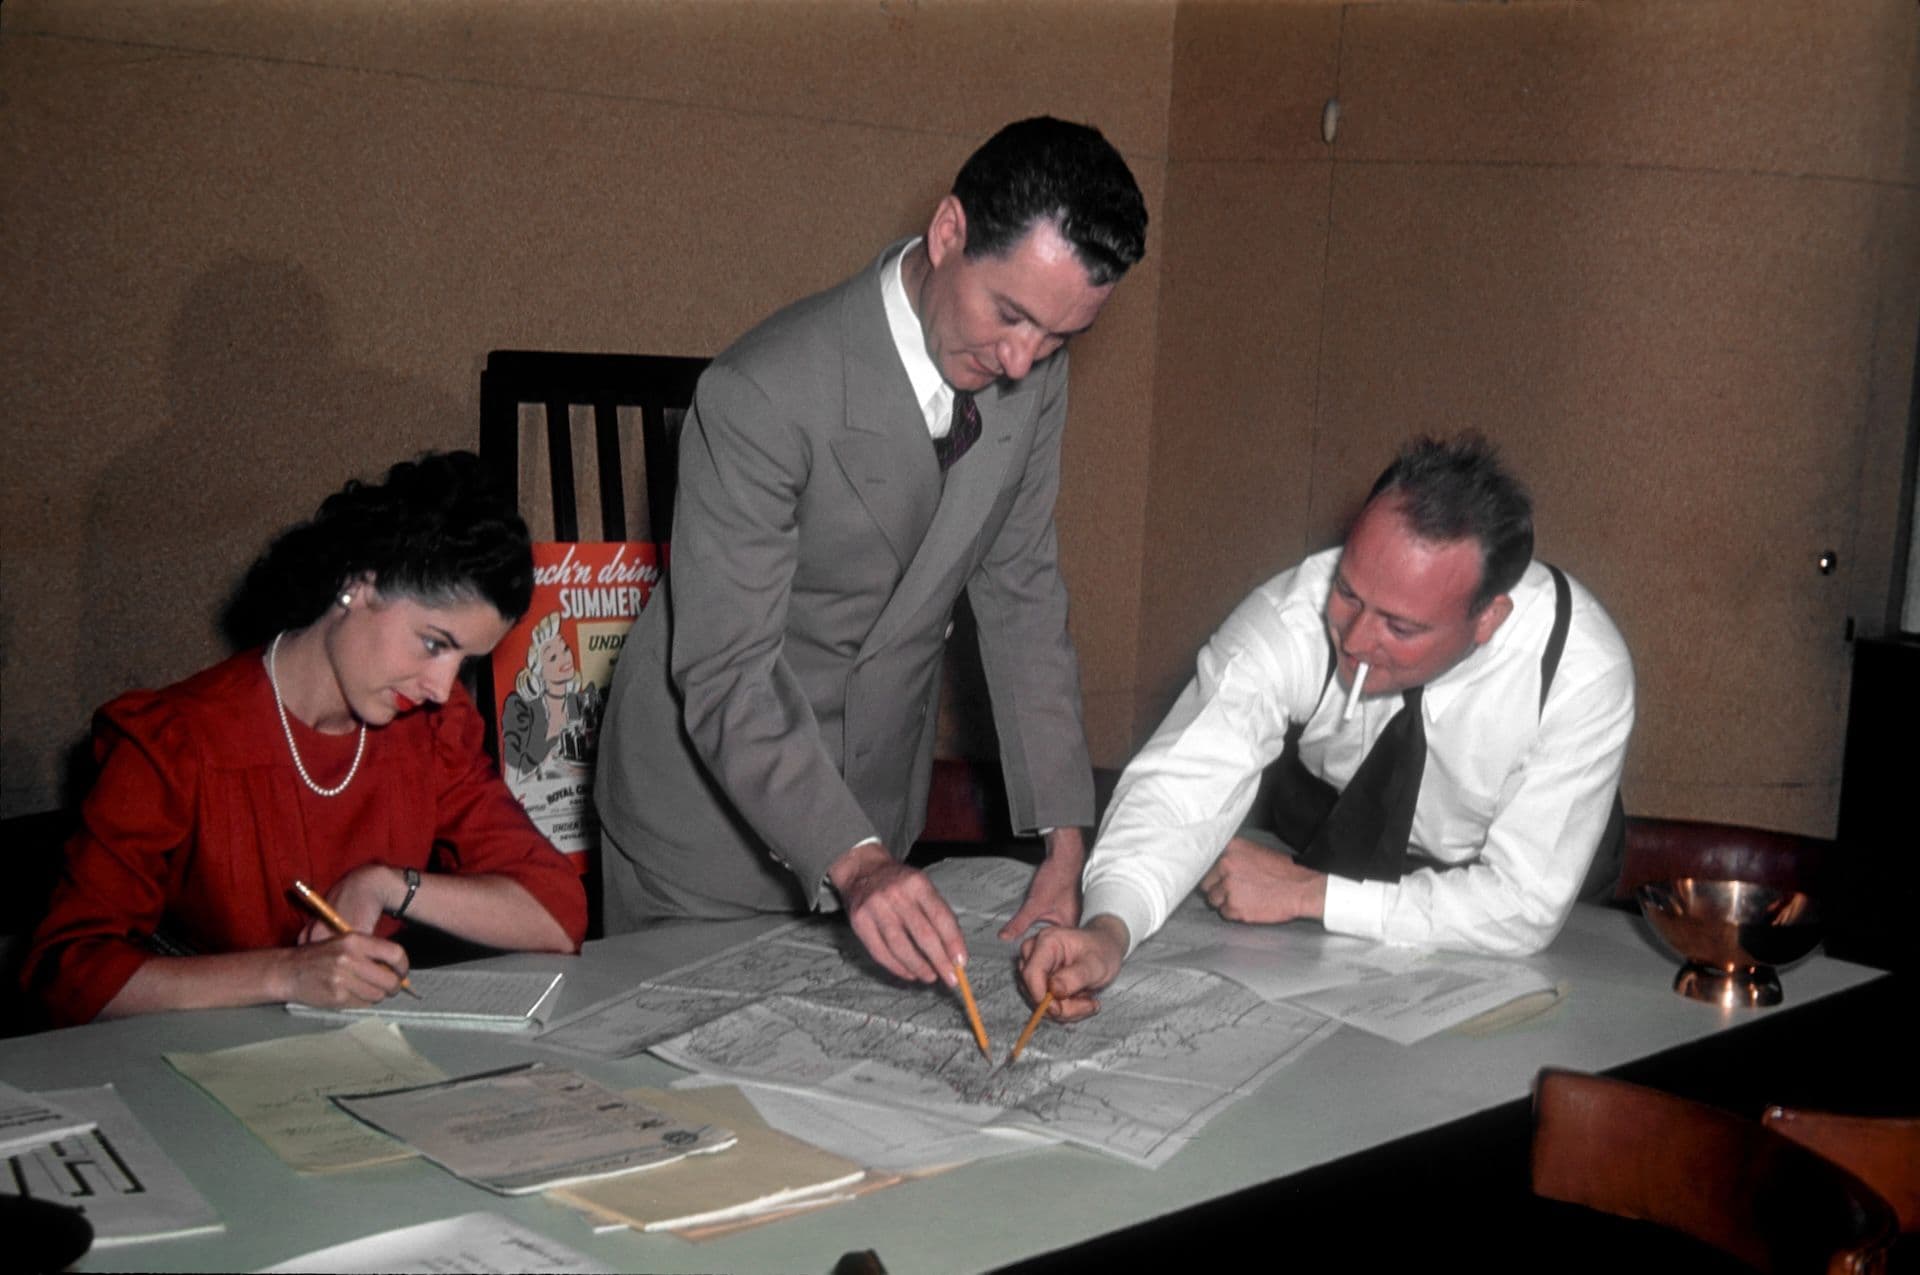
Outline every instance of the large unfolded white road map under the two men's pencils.
<svg viewBox="0 0 1920 1275"><path fill-rule="evenodd" d="M981 1058L958 997L904 985L845 926L793 922L555 1023L541 1045L601 1058L653 1048L708 1075L824 1091L981 1127L1035 1129L1158 1166L1208 1119L1336 1023L1198 970L1129 964L1096 1018L1043 1023L1004 1066L1029 1006L995 937L1029 870L933 868L968 941L968 977L996 1037Z"/></svg>

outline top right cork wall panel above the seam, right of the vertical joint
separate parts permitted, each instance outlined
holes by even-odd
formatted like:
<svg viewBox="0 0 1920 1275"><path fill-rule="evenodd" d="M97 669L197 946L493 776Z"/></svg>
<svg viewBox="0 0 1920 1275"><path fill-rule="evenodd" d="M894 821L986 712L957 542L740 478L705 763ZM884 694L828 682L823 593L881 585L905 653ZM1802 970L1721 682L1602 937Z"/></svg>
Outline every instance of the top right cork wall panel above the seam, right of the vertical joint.
<svg viewBox="0 0 1920 1275"><path fill-rule="evenodd" d="M1912 180L1914 27L1908 0L1354 6L1340 150Z"/></svg>

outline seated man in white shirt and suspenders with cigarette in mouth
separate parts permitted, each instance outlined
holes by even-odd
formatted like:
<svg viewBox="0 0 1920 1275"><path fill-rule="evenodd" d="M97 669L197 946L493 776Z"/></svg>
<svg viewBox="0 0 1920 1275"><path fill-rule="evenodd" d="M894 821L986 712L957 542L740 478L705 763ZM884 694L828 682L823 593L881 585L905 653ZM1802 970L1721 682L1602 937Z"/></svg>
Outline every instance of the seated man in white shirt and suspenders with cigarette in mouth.
<svg viewBox="0 0 1920 1275"><path fill-rule="evenodd" d="M1236 922L1546 947L1590 868L1590 889L1617 870L1634 670L1532 540L1532 505L1484 440L1402 449L1340 549L1269 580L1208 641L1121 776L1083 927L1023 945L1027 993L1092 1014L1196 883ZM1296 854L1236 835L1275 758L1271 814Z"/></svg>

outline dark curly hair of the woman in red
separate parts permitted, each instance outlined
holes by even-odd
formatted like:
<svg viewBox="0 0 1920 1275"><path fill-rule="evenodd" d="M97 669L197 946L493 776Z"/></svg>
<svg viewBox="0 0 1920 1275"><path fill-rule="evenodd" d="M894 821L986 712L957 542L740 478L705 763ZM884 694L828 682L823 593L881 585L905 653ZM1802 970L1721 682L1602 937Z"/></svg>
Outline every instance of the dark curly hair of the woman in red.
<svg viewBox="0 0 1920 1275"><path fill-rule="evenodd" d="M361 576L430 605L486 601L509 620L534 597L526 522L480 457L430 451L380 482L348 482L280 532L248 568L221 628L240 649L261 645L317 620Z"/></svg>

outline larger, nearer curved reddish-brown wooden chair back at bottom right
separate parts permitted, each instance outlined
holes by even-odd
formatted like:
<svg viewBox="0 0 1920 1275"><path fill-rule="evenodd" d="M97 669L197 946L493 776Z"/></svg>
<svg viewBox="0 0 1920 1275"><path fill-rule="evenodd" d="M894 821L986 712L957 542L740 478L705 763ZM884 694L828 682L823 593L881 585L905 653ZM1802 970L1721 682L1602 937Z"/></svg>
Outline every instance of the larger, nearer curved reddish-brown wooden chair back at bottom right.
<svg viewBox="0 0 1920 1275"><path fill-rule="evenodd" d="M1761 1271L1884 1271L1897 1235L1872 1187L1774 1129L1576 1071L1540 1073L1532 1189L1678 1231Z"/></svg>

